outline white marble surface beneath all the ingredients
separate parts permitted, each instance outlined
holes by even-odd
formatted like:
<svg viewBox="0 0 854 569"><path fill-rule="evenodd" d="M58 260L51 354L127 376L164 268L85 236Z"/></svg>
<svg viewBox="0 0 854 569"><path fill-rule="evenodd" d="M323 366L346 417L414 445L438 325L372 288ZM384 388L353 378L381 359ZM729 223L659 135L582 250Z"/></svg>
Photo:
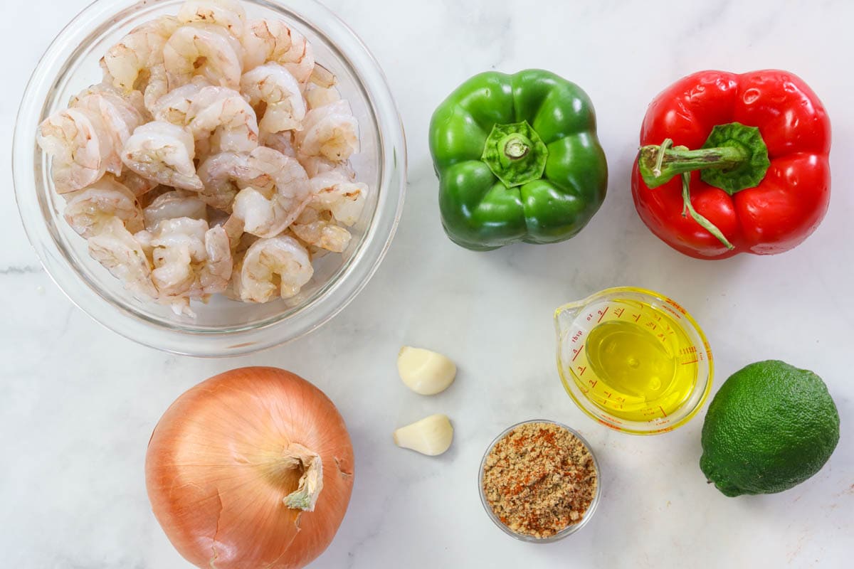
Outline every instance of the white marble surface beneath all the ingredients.
<svg viewBox="0 0 854 569"><path fill-rule="evenodd" d="M175 357L133 344L78 311L40 268L20 227L9 172L11 125L38 55L88 0L6 3L0 34L0 550L20 568L178 569L149 510L149 434L179 393L245 364L292 369L341 409L354 440L353 500L312 567L842 567L854 554L854 6L838 2L424 3L330 0L383 65L407 128L409 191L377 276L315 334L232 360ZM10 22L14 25L10 25ZM442 234L427 151L430 113L473 73L544 67L592 97L611 183L581 235L548 247L470 253ZM703 68L783 67L822 97L834 127L833 198L803 246L783 255L696 261L641 224L629 194L640 119L658 90ZM815 478L773 496L726 498L699 471L705 410L657 437L614 433L564 394L553 363L553 308L603 287L670 294L692 311L717 363L781 358L827 380L842 439ZM401 344L459 362L435 398L395 374ZM399 450L391 431L434 412L452 450ZM604 496L594 520L552 545L506 537L483 513L477 466L515 421L547 417L594 445Z"/></svg>

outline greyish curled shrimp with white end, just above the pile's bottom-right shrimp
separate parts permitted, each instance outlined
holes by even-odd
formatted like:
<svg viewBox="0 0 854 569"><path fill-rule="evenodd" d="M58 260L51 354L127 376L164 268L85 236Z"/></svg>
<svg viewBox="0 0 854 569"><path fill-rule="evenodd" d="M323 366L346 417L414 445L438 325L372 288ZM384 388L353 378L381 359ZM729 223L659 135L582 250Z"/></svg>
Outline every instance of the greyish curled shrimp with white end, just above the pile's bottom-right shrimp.
<svg viewBox="0 0 854 569"><path fill-rule="evenodd" d="M280 234L294 223L311 197L311 186L300 163L279 156L283 166L275 177L272 195L250 186L240 190L232 204L234 216L243 221L243 230L252 235L268 238Z"/></svg>

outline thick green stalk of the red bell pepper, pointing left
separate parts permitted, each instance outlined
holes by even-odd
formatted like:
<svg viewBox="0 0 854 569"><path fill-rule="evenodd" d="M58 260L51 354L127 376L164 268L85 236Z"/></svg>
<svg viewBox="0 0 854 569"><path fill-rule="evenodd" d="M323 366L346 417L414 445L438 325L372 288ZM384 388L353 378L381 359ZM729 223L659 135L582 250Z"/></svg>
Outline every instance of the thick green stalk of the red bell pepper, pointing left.
<svg viewBox="0 0 854 569"><path fill-rule="evenodd" d="M684 146L668 148L670 138L659 146L640 148L638 168L640 176L649 188L658 188L685 172L694 170L730 170L750 160L751 154L744 148L722 146L688 150Z"/></svg>

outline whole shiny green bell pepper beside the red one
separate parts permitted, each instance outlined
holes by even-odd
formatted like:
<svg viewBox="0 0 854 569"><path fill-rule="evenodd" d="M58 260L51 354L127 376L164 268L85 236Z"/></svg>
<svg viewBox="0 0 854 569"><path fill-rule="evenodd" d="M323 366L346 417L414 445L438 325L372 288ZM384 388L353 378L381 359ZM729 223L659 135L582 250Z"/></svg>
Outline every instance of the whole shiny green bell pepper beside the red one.
<svg viewBox="0 0 854 569"><path fill-rule="evenodd" d="M605 200L608 167L587 94L554 73L487 72L430 121L442 226L488 251L576 235Z"/></svg>

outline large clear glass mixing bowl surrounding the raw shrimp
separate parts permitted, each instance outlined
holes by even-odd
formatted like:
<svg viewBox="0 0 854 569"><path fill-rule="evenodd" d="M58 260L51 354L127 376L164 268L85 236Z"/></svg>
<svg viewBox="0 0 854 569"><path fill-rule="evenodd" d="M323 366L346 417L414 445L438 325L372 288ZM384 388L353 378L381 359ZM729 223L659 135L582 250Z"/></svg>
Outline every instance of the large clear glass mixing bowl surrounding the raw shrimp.
<svg viewBox="0 0 854 569"><path fill-rule="evenodd" d="M194 356L231 356L294 340L327 322L365 287L389 248L406 188L403 126L377 61L348 26L313 0L243 0L249 18L279 18L303 33L338 79L359 119L360 153L351 162L370 191L353 239L341 255L314 262L295 299L246 304L214 295L193 302L196 317L141 301L92 259L86 241L62 218L50 160L36 144L39 123L71 96L101 81L98 61L132 28L177 14L183 0L97 0L45 52L27 84L15 125L15 195L26 235L51 278L97 322L145 345Z"/></svg>

